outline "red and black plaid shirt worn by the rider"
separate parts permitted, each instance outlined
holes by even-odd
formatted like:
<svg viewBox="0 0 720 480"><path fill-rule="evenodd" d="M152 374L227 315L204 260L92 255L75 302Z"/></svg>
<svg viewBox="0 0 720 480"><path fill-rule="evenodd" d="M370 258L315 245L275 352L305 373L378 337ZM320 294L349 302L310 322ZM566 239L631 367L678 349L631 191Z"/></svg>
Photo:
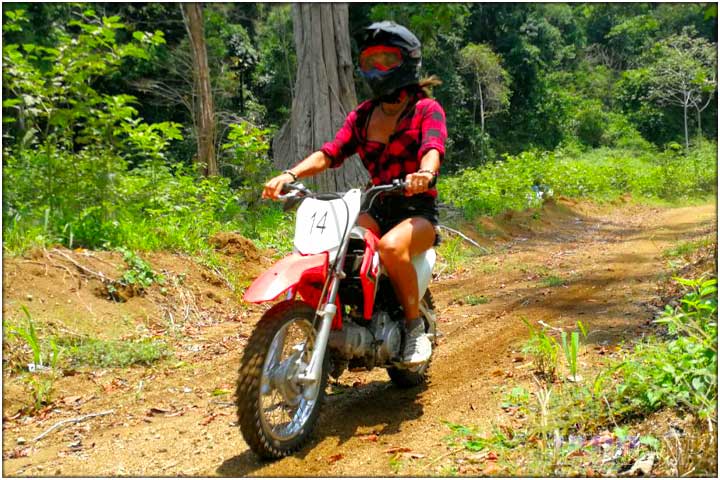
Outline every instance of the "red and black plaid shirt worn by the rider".
<svg viewBox="0 0 720 480"><path fill-rule="evenodd" d="M415 97L400 115L387 145L367 139L370 116L377 101L367 100L358 105L348 114L335 139L320 149L330 157L330 166L337 168L347 157L357 153L370 173L372 183L385 185L417 172L420 160L430 149L437 150L442 161L447 138L445 112L437 101L422 91L413 95ZM427 193L437 197L435 188Z"/></svg>

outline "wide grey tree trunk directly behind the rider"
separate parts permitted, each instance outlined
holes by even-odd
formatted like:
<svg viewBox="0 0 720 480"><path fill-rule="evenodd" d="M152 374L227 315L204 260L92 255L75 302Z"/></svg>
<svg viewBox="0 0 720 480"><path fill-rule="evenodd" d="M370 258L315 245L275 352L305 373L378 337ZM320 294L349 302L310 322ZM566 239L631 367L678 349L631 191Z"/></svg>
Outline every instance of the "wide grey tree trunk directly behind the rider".
<svg viewBox="0 0 720 480"><path fill-rule="evenodd" d="M295 96L290 120L273 140L275 166L289 168L332 140L357 105L350 56L347 4L293 4L297 51ZM344 191L369 179L353 156L342 167L313 180L319 191Z"/></svg>

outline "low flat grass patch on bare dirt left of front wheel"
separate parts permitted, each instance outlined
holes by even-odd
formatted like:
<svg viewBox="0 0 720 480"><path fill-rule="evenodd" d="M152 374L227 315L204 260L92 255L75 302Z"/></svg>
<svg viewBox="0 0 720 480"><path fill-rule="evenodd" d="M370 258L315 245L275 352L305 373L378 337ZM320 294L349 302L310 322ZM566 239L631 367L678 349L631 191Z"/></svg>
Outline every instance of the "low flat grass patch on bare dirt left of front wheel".
<svg viewBox="0 0 720 480"><path fill-rule="evenodd" d="M124 368L131 365L149 366L169 358L171 352L164 342L154 340L123 341L61 339L66 357L75 366Z"/></svg>

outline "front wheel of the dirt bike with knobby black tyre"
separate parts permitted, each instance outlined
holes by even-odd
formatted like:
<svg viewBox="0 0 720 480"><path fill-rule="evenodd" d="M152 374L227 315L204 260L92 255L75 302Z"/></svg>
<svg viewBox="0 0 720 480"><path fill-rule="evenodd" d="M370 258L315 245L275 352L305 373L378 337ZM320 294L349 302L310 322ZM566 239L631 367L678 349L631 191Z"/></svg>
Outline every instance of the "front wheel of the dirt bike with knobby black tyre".
<svg viewBox="0 0 720 480"><path fill-rule="evenodd" d="M319 385L303 385L298 373L310 362L315 310L297 301L278 303L260 319L240 362L236 402L245 441L261 458L282 458L312 434L327 384L325 355Z"/></svg>

